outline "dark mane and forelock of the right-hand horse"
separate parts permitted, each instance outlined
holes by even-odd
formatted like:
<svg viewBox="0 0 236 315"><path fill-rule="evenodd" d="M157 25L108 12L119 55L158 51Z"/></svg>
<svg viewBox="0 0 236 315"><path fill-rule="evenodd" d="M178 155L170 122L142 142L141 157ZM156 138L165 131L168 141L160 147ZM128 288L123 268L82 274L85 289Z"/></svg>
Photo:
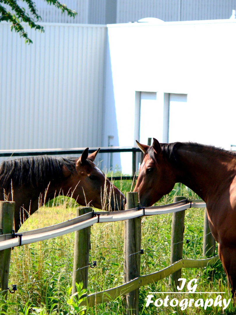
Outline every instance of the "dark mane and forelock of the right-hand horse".
<svg viewBox="0 0 236 315"><path fill-rule="evenodd" d="M161 143L161 147L163 150L163 153L166 155L166 157L168 158L168 160L171 163L174 164L178 164L178 155L177 155L177 149L179 147L182 146L188 146L190 148L190 150L195 150L196 152L203 152L203 150L207 150L212 152L215 152L217 154L221 154L224 156L232 156L236 158L236 153L232 152L232 151L227 151L225 149L222 148L217 148L215 146L209 146L209 145L204 145L204 144L199 144L199 143L195 143L195 142L173 142L173 143ZM154 150L153 147L150 146L147 150L147 152L145 153L149 154L149 156L156 161L156 157L154 154Z"/></svg>

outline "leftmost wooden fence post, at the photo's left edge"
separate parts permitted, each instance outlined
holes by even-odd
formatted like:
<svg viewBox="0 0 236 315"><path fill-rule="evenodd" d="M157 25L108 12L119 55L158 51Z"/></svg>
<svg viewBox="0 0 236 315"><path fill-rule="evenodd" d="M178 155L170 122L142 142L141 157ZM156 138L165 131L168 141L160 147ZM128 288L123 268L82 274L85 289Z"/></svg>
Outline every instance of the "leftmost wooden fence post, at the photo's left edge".
<svg viewBox="0 0 236 315"><path fill-rule="evenodd" d="M2 234L11 234L14 222L15 203L12 201L0 201L0 229ZM9 265L11 248L0 251L0 291L8 289ZM7 291L3 293L4 300L7 300Z"/></svg>

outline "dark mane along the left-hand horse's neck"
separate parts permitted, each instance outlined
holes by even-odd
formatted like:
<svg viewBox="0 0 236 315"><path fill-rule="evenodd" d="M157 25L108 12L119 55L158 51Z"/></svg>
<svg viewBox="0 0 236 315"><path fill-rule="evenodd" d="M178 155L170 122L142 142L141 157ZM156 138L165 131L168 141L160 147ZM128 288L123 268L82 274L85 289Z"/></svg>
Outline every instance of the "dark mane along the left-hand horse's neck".
<svg viewBox="0 0 236 315"><path fill-rule="evenodd" d="M63 165L73 173L76 159L76 157L42 155L3 161L0 164L0 186L9 189L12 182L13 186L19 187L23 185L46 187L49 181L59 181L63 178Z"/></svg>

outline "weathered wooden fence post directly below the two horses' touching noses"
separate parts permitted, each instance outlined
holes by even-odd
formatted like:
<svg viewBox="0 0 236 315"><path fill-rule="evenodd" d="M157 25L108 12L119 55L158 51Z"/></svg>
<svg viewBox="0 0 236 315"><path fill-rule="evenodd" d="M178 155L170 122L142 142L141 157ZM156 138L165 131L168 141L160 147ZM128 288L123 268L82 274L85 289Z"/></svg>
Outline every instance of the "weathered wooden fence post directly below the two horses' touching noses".
<svg viewBox="0 0 236 315"><path fill-rule="evenodd" d="M136 207L138 192L127 192L126 210ZM140 276L141 217L126 220L124 227L124 280L129 282ZM128 315L138 315L139 289L126 295L126 309Z"/></svg>

